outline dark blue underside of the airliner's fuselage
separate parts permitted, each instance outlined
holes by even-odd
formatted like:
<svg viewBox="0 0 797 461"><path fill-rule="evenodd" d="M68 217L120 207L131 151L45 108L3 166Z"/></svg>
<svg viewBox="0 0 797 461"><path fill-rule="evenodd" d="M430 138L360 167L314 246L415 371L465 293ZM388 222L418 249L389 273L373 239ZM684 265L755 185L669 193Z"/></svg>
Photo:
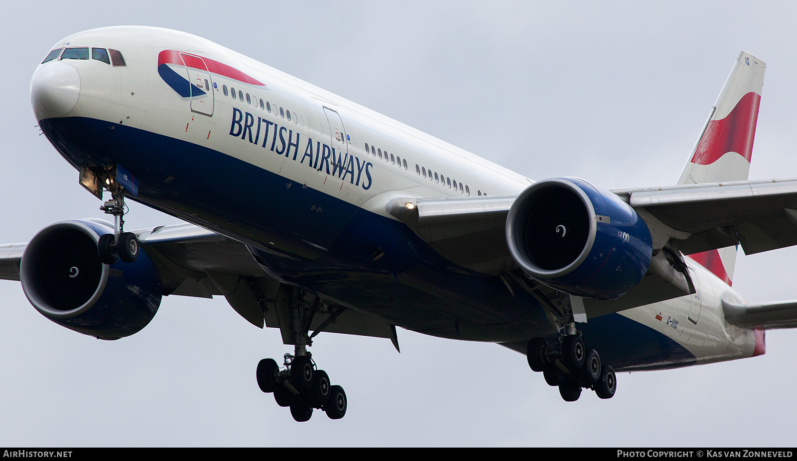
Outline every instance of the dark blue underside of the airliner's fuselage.
<svg viewBox="0 0 797 461"><path fill-rule="evenodd" d="M531 295L512 295L498 277L458 268L399 221L216 150L123 124L69 117L40 126L76 168L119 163L139 179L135 200L261 248L256 255L269 272L328 299L443 338L518 342L551 330ZM375 260L379 252L384 256ZM695 360L620 314L580 327L615 369Z"/></svg>

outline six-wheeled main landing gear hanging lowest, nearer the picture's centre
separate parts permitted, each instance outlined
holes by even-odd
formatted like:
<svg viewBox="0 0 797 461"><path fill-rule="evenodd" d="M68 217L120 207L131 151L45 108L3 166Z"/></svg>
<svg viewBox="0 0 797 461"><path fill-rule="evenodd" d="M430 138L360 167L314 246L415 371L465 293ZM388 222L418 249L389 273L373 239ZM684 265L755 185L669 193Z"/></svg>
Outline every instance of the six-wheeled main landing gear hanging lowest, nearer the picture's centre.
<svg viewBox="0 0 797 461"><path fill-rule="evenodd" d="M333 420L340 420L346 415L344 388L332 385L327 373L318 369L312 354L307 351L307 346L312 346L312 338L308 336L310 323L319 302L320 298L316 296L308 306L304 303L304 291L292 288L290 317L293 355L285 354L281 367L273 358L264 358L257 364L257 385L260 390L273 393L277 404L290 407L293 419L299 422L309 420L313 408L324 410Z"/></svg>

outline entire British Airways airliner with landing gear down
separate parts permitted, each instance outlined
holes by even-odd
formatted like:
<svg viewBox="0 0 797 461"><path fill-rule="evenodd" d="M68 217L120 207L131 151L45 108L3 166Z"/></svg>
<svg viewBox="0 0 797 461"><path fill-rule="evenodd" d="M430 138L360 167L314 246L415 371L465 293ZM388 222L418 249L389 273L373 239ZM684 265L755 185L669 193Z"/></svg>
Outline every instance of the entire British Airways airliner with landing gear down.
<svg viewBox="0 0 797 461"><path fill-rule="evenodd" d="M496 342L564 400L615 371L764 354L797 302L750 305L736 252L797 244L797 179L748 181L764 62L740 53L675 186L532 181L200 37L111 27L43 50L36 119L113 223L0 245L0 278L101 339L163 295L224 295L294 347L257 384L304 421L345 415L308 352L396 327ZM124 231L124 201L190 224Z"/></svg>

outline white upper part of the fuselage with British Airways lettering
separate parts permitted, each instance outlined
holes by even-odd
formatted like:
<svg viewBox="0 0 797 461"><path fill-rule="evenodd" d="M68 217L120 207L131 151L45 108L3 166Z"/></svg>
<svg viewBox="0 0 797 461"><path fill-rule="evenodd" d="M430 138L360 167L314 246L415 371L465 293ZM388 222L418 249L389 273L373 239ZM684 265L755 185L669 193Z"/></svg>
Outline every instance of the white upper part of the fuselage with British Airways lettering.
<svg viewBox="0 0 797 461"><path fill-rule="evenodd" d="M112 27L74 34L53 49L63 47L116 49L125 65L115 67L90 58L41 64L32 82L37 119L53 115L100 119L180 139L391 219L395 218L385 209L388 197L517 194L532 184L493 162L201 37L168 29ZM210 76L206 89L212 97L181 97L159 74L159 54L164 50L224 64L261 84L236 79L230 72L214 72L210 66L208 72L194 74L171 62L170 68L187 72L183 75L189 81L198 79L198 88L205 89L203 75ZM64 66L76 69L77 88ZM53 75L65 75L66 83L58 83ZM59 114L46 106L46 94L68 93L66 87L77 98L69 111ZM230 96L233 88L236 97ZM69 97L61 104L69 106ZM335 114L342 127L336 127ZM300 135L296 146L286 146L292 140L289 131ZM346 155L342 170L335 172L332 157L318 152L318 143ZM315 149L310 157L305 156L308 144ZM275 154L281 147L287 155ZM313 167L308 167L310 161ZM717 276L688 261L697 294L620 314L672 338L697 357L697 363L750 357L755 333L728 325L721 306L722 299L735 303L743 299Z"/></svg>

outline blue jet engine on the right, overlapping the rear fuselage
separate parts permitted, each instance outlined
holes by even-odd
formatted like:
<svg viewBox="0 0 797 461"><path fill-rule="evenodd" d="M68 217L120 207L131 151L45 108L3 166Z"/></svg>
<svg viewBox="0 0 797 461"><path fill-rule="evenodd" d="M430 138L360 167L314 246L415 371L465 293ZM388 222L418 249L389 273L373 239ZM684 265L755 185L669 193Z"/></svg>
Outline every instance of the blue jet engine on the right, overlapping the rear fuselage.
<svg viewBox="0 0 797 461"><path fill-rule="evenodd" d="M528 186L512 203L506 240L515 262L549 287L614 299L637 285L652 255L650 229L620 197L579 178Z"/></svg>

